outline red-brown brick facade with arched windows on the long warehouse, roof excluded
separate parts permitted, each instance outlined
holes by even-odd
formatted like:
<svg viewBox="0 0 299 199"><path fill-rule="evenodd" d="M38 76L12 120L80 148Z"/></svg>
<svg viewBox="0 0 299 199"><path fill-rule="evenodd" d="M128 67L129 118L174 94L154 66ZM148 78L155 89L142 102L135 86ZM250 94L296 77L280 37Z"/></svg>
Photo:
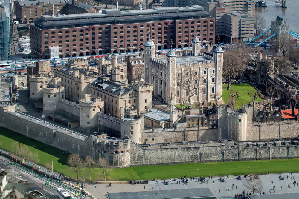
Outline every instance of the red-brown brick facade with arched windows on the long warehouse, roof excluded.
<svg viewBox="0 0 299 199"><path fill-rule="evenodd" d="M140 51L149 34L158 50L170 48L170 39L174 48L190 46L190 33L193 39L195 31L203 45L214 44L214 27L215 18L49 30L31 25L30 37L32 53L39 58L48 58L49 47L57 45L60 46L60 57L73 57Z"/></svg>

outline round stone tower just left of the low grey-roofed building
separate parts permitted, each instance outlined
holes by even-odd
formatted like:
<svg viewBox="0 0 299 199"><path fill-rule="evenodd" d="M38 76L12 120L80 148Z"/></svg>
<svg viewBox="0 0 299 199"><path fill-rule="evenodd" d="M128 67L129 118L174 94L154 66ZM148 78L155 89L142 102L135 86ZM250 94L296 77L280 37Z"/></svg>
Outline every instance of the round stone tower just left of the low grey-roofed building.
<svg viewBox="0 0 299 199"><path fill-rule="evenodd" d="M126 110L126 117L120 120L120 136L127 136L133 142L141 144L143 116L137 116L136 113L136 109Z"/></svg>

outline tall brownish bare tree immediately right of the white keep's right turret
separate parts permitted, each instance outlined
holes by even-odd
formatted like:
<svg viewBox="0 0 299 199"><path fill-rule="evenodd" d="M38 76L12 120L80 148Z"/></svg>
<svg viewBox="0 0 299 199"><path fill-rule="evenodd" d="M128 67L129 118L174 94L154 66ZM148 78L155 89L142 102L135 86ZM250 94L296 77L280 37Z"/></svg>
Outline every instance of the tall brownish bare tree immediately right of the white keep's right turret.
<svg viewBox="0 0 299 199"><path fill-rule="evenodd" d="M228 50L223 53L223 77L228 81L227 90L230 90L231 79L237 72L245 70L245 66L242 63L237 51Z"/></svg>

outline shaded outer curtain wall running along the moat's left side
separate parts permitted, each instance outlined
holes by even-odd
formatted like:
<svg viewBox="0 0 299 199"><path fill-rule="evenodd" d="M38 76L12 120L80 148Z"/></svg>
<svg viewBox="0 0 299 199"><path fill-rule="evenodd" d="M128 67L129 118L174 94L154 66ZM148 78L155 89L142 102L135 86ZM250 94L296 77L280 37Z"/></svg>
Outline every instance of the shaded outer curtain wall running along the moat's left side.
<svg viewBox="0 0 299 199"><path fill-rule="evenodd" d="M11 106L15 107L15 105ZM86 155L94 157L91 137L71 133L71 131L65 132L65 129L61 127L45 123L20 112L9 112L5 107L0 107L0 125L63 151L79 153L83 157Z"/></svg>

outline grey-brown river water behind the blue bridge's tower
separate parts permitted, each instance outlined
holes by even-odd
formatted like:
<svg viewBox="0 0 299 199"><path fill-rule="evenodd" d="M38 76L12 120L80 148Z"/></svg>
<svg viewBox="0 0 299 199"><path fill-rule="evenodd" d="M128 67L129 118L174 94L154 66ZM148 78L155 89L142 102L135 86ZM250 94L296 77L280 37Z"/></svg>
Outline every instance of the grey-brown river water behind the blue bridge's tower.
<svg viewBox="0 0 299 199"><path fill-rule="evenodd" d="M299 0L286 0L286 7L282 8L275 5L276 0L266 0L267 7L256 8L255 13L260 13L265 18L266 27L270 28L270 22L278 16L284 18L287 24L290 25L290 30L299 33Z"/></svg>

